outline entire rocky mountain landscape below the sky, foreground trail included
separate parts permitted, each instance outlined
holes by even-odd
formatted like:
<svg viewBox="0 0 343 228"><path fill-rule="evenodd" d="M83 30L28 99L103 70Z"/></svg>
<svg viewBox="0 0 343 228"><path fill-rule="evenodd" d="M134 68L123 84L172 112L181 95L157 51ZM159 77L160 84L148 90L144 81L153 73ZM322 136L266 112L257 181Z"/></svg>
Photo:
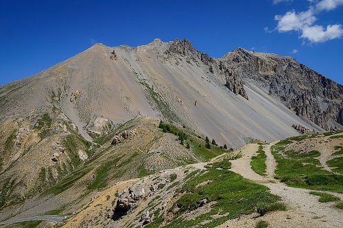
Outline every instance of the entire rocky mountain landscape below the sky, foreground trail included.
<svg viewBox="0 0 343 228"><path fill-rule="evenodd" d="M342 125L294 58L96 44L0 87L0 226L342 227Z"/></svg>

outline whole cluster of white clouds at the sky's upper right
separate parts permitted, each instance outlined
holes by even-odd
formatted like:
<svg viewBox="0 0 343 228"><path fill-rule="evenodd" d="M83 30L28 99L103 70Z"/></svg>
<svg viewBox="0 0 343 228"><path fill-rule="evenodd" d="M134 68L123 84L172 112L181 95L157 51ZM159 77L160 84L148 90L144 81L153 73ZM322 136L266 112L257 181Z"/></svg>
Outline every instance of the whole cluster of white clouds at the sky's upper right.
<svg viewBox="0 0 343 228"><path fill-rule="evenodd" d="M326 42L343 36L342 25L315 25L318 20L316 15L320 12L328 12L343 5L343 0L308 0L308 10L296 12L291 10L283 15L276 15L274 19L277 21L276 30L279 32L298 31L300 38L309 40L311 43ZM267 27L266 32L270 31Z"/></svg>

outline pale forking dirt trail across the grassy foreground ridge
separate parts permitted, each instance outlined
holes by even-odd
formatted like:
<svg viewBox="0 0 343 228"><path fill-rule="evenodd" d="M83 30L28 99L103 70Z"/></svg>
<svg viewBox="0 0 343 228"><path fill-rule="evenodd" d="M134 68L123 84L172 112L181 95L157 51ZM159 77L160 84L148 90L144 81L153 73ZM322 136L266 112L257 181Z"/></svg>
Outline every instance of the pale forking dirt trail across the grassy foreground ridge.
<svg viewBox="0 0 343 228"><path fill-rule="evenodd" d="M268 221L270 223L269 227L343 227L342 212L333 207L335 202L320 203L318 197L309 194L311 190L285 186L285 184L274 179L276 162L270 148L275 143L273 142L264 147L267 155L267 175L265 177L258 175L250 167L251 157L255 155L258 149L257 144L242 147L243 157L232 161L231 170L270 188L270 192L280 196L289 210L286 212L272 212L262 218L257 218L257 214L242 216L235 220L228 220L217 228L255 227L257 220ZM333 194L343 200L343 194Z"/></svg>

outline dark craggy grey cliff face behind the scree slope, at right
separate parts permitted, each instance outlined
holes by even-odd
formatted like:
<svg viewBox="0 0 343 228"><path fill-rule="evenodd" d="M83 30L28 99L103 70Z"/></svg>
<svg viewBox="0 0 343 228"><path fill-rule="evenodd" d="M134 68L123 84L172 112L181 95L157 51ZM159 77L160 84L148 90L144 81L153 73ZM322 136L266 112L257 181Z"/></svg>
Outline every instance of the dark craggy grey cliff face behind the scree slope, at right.
<svg viewBox="0 0 343 228"><path fill-rule="evenodd" d="M236 49L223 57L244 81L254 81L298 116L329 130L343 125L343 86L293 58Z"/></svg>

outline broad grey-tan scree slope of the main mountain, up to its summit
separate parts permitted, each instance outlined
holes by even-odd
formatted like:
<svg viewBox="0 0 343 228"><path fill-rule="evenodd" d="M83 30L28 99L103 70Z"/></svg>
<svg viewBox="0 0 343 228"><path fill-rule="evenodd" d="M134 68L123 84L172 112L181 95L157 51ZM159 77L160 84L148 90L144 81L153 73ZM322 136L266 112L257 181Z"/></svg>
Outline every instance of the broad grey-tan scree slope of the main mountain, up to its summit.
<svg viewBox="0 0 343 228"><path fill-rule="evenodd" d="M196 51L188 40L154 40L137 48L94 45L1 87L0 96L0 118L55 105L86 140L86 126L97 117L117 124L139 115L186 125L230 147L295 135L292 124L321 129L259 86L244 85L227 62Z"/></svg>

